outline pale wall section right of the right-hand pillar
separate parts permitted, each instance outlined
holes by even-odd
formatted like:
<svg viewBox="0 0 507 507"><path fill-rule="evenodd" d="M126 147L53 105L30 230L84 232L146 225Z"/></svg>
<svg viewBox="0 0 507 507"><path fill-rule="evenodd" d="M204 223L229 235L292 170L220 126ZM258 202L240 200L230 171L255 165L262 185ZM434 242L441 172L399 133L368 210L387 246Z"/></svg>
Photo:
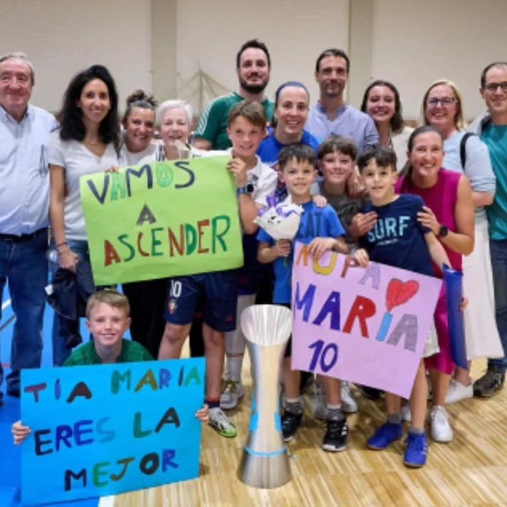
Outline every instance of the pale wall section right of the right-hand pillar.
<svg viewBox="0 0 507 507"><path fill-rule="evenodd" d="M451 79L472 118L484 110L481 71L507 60L506 36L506 0L374 0L372 78L399 88L406 118L434 80Z"/></svg>

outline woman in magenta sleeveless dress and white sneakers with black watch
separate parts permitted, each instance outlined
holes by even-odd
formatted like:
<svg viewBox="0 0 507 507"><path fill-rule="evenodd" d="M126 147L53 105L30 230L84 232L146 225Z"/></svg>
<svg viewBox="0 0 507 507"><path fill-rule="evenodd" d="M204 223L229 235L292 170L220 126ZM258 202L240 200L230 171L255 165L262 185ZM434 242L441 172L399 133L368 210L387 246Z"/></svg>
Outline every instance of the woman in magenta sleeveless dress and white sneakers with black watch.
<svg viewBox="0 0 507 507"><path fill-rule="evenodd" d="M407 172L397 182L398 193L417 194L426 203L419 221L431 229L446 250L452 268L461 270L461 256L474 249L474 203L469 179L464 174L441 169L444 140L434 127L419 127L409 137ZM435 267L435 274L441 277ZM444 401L454 371L451 359L445 291L442 288L435 326L440 352L426 362L432 382L431 433L435 441L449 442L453 432Z"/></svg>

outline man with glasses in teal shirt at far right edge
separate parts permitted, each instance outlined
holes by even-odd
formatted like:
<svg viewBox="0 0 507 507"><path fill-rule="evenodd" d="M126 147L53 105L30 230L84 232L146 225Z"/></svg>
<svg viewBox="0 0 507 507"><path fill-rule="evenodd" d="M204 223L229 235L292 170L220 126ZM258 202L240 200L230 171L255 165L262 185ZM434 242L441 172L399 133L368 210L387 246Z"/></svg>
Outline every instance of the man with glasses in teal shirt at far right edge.
<svg viewBox="0 0 507 507"><path fill-rule="evenodd" d="M477 118L470 130L488 147L496 176L495 200L486 211L496 326L503 347L503 357L488 359L486 374L474 383L476 396L489 397L503 386L507 367L507 62L491 63L483 70L480 91L488 112Z"/></svg>

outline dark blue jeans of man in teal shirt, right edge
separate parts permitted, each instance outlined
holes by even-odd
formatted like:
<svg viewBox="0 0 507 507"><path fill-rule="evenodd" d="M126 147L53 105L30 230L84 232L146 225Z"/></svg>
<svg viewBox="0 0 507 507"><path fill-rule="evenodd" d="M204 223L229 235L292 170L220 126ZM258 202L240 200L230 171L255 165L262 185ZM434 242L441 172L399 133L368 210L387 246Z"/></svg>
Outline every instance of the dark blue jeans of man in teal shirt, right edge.
<svg viewBox="0 0 507 507"><path fill-rule="evenodd" d="M495 289L496 327L503 347L503 358L489 359L488 367L496 367L501 372L507 367L507 239L489 241L493 286Z"/></svg>

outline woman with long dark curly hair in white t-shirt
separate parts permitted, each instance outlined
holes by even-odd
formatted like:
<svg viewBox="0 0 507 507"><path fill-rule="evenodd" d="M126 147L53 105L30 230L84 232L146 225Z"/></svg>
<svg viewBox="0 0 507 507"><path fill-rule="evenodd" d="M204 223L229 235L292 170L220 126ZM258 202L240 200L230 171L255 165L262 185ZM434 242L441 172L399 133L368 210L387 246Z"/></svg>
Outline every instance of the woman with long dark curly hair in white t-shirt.
<svg viewBox="0 0 507 507"><path fill-rule="evenodd" d="M107 68L94 65L76 74L63 96L58 114L61 128L53 132L48 146L53 241L58 266L70 271L75 271L78 261L90 260L79 179L118 165L117 103L115 82ZM70 350L55 318L53 363L61 365Z"/></svg>

